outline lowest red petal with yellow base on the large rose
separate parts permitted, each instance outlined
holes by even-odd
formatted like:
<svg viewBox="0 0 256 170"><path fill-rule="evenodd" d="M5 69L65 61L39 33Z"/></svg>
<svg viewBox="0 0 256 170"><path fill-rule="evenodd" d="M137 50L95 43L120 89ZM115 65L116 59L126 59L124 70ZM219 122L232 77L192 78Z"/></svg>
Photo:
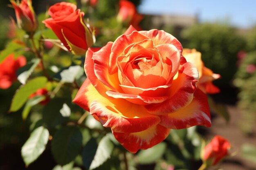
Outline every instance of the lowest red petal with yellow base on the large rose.
<svg viewBox="0 0 256 170"><path fill-rule="evenodd" d="M136 153L139 149L148 149L159 144L166 139L169 132L170 129L156 125L141 132L113 132L113 135L124 148L132 153Z"/></svg>

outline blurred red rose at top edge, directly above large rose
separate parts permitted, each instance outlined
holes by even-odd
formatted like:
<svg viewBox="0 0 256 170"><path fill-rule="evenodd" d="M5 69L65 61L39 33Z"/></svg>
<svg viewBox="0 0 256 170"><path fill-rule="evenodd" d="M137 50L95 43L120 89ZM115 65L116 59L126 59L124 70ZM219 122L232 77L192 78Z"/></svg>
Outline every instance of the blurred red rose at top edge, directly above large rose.
<svg viewBox="0 0 256 170"><path fill-rule="evenodd" d="M132 25L138 31L141 31L139 22L143 19L143 15L138 14L135 5L128 0L119 1L119 12L117 14L117 20L125 23L126 25Z"/></svg>

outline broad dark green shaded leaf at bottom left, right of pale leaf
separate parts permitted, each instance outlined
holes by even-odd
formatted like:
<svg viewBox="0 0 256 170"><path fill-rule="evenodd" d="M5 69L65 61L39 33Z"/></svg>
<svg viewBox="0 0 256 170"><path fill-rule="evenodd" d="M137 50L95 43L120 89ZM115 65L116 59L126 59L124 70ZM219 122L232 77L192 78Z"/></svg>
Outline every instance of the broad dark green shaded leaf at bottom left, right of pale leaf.
<svg viewBox="0 0 256 170"><path fill-rule="evenodd" d="M52 154L60 165L73 161L82 148L82 134L79 128L65 126L52 139Z"/></svg>

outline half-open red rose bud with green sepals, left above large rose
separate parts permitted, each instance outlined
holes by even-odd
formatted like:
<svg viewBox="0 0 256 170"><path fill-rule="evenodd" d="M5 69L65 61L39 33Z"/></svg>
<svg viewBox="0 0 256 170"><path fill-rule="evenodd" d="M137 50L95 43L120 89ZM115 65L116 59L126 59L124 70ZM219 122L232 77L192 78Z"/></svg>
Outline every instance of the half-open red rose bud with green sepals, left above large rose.
<svg viewBox="0 0 256 170"><path fill-rule="evenodd" d="M84 13L68 2L52 5L48 13L52 18L43 21L45 26L54 31L70 52L75 55L85 54L94 43L94 33L83 21Z"/></svg>

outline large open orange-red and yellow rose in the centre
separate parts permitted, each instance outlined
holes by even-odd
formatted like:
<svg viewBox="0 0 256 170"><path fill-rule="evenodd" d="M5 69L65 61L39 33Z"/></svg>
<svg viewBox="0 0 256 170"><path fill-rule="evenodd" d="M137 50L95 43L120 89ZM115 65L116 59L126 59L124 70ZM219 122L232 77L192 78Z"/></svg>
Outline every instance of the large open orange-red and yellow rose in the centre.
<svg viewBox="0 0 256 170"><path fill-rule="evenodd" d="M89 110L130 152L163 141L170 129L211 126L198 71L171 34L132 26L115 42L89 48L87 79L73 102Z"/></svg>

